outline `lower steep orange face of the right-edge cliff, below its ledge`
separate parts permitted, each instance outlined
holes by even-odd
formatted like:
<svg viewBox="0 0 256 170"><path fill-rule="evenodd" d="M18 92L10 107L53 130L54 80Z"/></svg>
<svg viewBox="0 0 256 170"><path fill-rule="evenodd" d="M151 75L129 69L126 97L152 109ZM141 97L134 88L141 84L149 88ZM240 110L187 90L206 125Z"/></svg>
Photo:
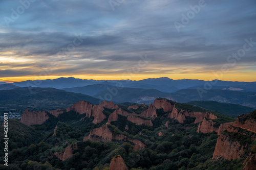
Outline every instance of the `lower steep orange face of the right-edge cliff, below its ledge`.
<svg viewBox="0 0 256 170"><path fill-rule="evenodd" d="M214 150L213 159L219 159L220 157L226 158L228 160L240 158L245 154L243 147L236 141L230 142L227 137L221 134L218 137L216 147Z"/></svg>

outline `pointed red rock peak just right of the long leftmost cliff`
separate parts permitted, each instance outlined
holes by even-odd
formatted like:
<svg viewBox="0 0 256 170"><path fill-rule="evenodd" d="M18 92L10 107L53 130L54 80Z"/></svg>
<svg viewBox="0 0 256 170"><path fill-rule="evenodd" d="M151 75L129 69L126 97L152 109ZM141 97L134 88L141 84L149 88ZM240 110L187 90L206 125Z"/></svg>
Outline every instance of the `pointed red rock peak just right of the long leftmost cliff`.
<svg viewBox="0 0 256 170"><path fill-rule="evenodd" d="M66 110L67 112L69 112L70 110L73 110L78 112L79 114L86 113L86 116L90 117L92 114L92 104L86 101L79 101Z"/></svg>

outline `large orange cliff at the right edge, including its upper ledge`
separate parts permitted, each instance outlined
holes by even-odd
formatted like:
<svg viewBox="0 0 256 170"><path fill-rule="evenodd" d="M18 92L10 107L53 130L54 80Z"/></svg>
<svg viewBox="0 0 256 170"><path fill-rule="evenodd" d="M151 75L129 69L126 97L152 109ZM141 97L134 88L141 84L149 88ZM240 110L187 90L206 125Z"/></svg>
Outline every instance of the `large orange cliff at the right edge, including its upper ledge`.
<svg viewBox="0 0 256 170"><path fill-rule="evenodd" d="M249 113L250 114L250 113ZM234 123L222 124L219 127L219 137L216 143L214 155L212 159L218 159L223 157L231 160L236 158L245 158L248 153L250 143L243 144L237 137L240 134L250 136L251 141L256 139L256 132L254 131L256 126L256 119L253 119L247 115L240 116ZM225 131L226 130L226 131ZM254 132L254 133L251 133ZM231 136L231 137L230 137ZM255 155L255 154L254 154ZM249 159L249 157L248 157ZM253 159L248 164L253 164Z"/></svg>

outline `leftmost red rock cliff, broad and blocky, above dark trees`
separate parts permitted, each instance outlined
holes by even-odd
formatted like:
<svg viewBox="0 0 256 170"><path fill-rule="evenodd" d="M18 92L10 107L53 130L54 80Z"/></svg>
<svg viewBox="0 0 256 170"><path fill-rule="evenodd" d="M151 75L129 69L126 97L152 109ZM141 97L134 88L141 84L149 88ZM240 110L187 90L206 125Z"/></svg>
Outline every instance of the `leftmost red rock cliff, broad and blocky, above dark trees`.
<svg viewBox="0 0 256 170"><path fill-rule="evenodd" d="M41 125L44 124L47 119L49 119L49 116L45 111L29 111L29 109L26 109L22 114L20 122L28 126Z"/></svg>

